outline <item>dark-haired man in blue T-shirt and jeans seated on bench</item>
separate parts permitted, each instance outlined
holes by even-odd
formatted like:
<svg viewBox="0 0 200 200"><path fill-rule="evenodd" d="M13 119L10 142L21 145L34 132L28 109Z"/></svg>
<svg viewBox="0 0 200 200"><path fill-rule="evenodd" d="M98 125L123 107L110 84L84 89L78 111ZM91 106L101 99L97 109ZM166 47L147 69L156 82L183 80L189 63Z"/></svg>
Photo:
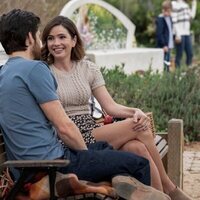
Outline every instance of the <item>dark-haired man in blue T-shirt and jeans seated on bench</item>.
<svg viewBox="0 0 200 200"><path fill-rule="evenodd" d="M62 173L93 182L112 180L125 199L170 199L150 184L146 159L114 150L88 150L56 94L56 81L40 58L39 17L14 9L1 16L0 42L8 61L0 71L0 125L10 160L69 159ZM56 129L54 129L54 127ZM57 139L68 146L63 149ZM130 175L137 178L116 176ZM121 179L124 177L123 179ZM58 184L59 185L59 184ZM123 192L129 186L130 190Z"/></svg>

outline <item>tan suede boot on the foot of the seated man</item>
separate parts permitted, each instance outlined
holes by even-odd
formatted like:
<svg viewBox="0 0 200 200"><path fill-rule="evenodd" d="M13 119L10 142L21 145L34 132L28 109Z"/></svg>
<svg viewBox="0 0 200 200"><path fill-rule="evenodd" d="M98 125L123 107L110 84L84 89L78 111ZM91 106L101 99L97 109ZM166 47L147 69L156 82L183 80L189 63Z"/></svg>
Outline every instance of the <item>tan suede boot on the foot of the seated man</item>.
<svg viewBox="0 0 200 200"><path fill-rule="evenodd" d="M171 198L161 191L144 185L137 179L129 176L115 176L112 186L117 194L126 200L170 200Z"/></svg>

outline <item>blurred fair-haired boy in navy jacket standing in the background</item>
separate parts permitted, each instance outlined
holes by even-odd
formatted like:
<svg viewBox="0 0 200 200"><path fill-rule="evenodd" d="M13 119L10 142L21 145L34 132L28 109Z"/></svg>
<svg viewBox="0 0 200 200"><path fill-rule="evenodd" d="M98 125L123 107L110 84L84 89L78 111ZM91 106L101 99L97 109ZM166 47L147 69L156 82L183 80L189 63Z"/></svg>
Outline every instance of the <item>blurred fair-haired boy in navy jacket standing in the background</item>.
<svg viewBox="0 0 200 200"><path fill-rule="evenodd" d="M157 47L162 48L164 51L164 69L168 72L170 66L170 50L174 47L171 10L171 1L164 1L162 3L162 14L160 14L156 20Z"/></svg>

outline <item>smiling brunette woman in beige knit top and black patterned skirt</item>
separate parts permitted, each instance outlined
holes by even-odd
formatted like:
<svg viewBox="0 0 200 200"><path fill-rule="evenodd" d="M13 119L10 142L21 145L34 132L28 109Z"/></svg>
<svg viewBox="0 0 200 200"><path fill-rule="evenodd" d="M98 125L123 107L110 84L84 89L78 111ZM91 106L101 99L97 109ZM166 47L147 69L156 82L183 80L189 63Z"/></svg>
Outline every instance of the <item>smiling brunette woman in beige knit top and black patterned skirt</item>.
<svg viewBox="0 0 200 200"><path fill-rule="evenodd" d="M75 24L66 17L55 17L46 25L42 42L42 59L50 64L58 82L61 103L79 127L85 142L104 140L115 149L147 158L151 167L151 185L169 194L172 200L189 200L165 172L148 128L148 117L138 108L117 104L108 93L98 67L84 59L83 43ZM96 124L89 109L91 95L109 115L126 120L105 126Z"/></svg>

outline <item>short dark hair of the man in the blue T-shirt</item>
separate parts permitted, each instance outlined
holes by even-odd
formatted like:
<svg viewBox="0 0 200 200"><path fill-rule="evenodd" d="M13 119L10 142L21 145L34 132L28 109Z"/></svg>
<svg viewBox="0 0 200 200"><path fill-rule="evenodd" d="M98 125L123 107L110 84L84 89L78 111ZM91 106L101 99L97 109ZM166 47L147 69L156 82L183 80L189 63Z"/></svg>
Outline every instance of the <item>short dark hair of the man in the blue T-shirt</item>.
<svg viewBox="0 0 200 200"><path fill-rule="evenodd" d="M0 17L0 42L7 54L25 51L26 38L30 32L36 39L40 18L34 13L13 9Z"/></svg>

